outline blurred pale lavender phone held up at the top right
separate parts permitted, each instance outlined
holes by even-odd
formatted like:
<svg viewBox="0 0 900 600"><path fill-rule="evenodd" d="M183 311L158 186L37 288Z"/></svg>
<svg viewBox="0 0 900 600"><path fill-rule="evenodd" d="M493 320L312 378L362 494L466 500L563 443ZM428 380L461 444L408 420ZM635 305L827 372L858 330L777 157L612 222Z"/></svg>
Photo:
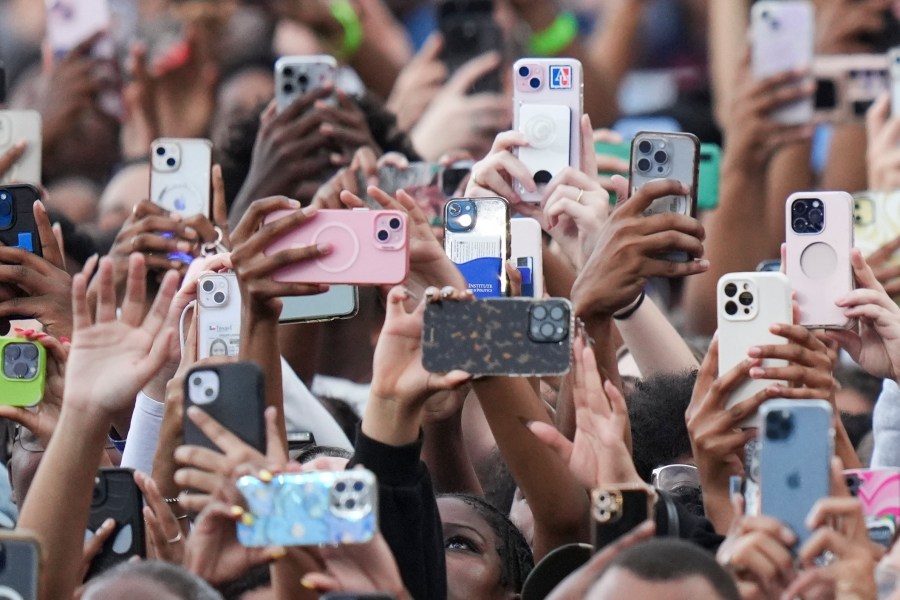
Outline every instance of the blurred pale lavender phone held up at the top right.
<svg viewBox="0 0 900 600"><path fill-rule="evenodd" d="M810 69L815 43L813 5L805 0L763 0L750 9L751 70L754 79ZM813 118L813 99L802 98L772 111L779 123L799 125Z"/></svg>

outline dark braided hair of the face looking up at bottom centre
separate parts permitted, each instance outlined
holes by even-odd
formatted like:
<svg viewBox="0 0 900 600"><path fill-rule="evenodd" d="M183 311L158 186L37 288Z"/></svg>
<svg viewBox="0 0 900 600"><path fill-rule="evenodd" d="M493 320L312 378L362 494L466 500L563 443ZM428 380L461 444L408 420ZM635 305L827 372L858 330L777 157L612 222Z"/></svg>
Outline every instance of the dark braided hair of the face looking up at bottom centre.
<svg viewBox="0 0 900 600"><path fill-rule="evenodd" d="M438 498L456 498L475 509L497 536L500 555L500 585L520 593L525 578L534 568L534 556L525 536L505 514L491 506L484 498L471 494L441 494Z"/></svg>

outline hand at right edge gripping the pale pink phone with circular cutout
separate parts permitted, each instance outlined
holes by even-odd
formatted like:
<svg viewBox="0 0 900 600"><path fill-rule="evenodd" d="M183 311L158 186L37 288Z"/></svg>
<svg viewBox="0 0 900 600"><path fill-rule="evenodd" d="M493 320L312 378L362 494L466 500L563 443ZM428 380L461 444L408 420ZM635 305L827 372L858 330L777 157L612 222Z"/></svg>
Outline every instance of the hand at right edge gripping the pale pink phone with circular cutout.
<svg viewBox="0 0 900 600"><path fill-rule="evenodd" d="M847 317L859 319L859 331L834 330L826 335L869 374L896 380L900 375L900 308L885 293L859 250L850 251L850 265L857 288L837 305Z"/></svg>

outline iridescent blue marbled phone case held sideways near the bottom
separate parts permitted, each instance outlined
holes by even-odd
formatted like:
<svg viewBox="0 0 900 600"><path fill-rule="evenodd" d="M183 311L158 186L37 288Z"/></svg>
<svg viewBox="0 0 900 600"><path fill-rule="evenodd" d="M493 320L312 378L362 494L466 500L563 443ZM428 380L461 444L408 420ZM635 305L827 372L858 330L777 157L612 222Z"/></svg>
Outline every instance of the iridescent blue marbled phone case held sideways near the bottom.
<svg viewBox="0 0 900 600"><path fill-rule="evenodd" d="M244 476L237 486L252 517L237 526L244 546L361 544L378 532L378 485L365 469Z"/></svg>

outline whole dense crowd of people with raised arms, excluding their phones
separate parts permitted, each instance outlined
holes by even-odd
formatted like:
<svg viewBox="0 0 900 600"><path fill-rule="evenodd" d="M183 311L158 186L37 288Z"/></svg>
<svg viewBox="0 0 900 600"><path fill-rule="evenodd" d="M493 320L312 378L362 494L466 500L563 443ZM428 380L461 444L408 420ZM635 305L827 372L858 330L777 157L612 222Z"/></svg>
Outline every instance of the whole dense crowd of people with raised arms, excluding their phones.
<svg viewBox="0 0 900 600"><path fill-rule="evenodd" d="M46 366L34 406L4 397L24 389L6 371L0 386L0 585L36 574L44 600L900 598L896 525L873 541L843 474L900 469L900 229L851 252L856 289L837 306L853 328L775 324L783 343L751 347L732 369L719 368L716 336L719 278L782 255L790 194L900 188L889 95L864 119L785 124L778 110L815 89L807 70L752 75L751 0L448 2L109 0L117 19L136 19L132 33L117 38L114 18L60 52L48 13L98 3L0 0L0 108L42 123L39 150L0 156L0 181L19 183L29 150L42 173L41 199L19 217L33 217L38 247L0 246L0 333L42 346ZM810 2L817 56L887 51L878 40L896 2ZM450 69L440 18L476 4L502 40ZM111 55L98 51L110 42ZM314 55L337 59L334 84L278 107L276 60ZM575 58L584 79L578 167L553 174L539 203L520 197L537 187L512 100L513 62L535 56ZM498 73L498 89L472 91ZM717 206L645 214L692 190L632 189L613 174L628 160L597 148L641 129L721 146L706 175ZM211 140L208 217L150 201L159 138ZM379 189L384 167L420 162L467 173L437 202ZM577 317L566 375L423 366L429 303L489 301L466 291L439 225L448 197L485 196L542 227L538 295L569 299ZM366 206L406 215L406 280L360 286L352 318L281 322L283 298L328 286L278 273L334 249L267 249L318 211ZM240 292L237 356L230 337L198 344L191 308L198 280L225 272ZM185 398L192 369L234 361L264 375L264 446ZM755 379L782 383L734 402ZM755 477L746 420L773 398L832 407L831 491L809 531L741 493ZM209 447L185 443L186 423ZM313 441L299 453L298 436ZM371 540L239 543L254 522L242 477L359 467L377 480ZM133 470L143 547L120 548L134 544L116 519L93 522L101 468ZM655 503L595 548L603 489ZM17 540L36 542L39 560L12 560ZM98 568L110 553L122 556Z"/></svg>

